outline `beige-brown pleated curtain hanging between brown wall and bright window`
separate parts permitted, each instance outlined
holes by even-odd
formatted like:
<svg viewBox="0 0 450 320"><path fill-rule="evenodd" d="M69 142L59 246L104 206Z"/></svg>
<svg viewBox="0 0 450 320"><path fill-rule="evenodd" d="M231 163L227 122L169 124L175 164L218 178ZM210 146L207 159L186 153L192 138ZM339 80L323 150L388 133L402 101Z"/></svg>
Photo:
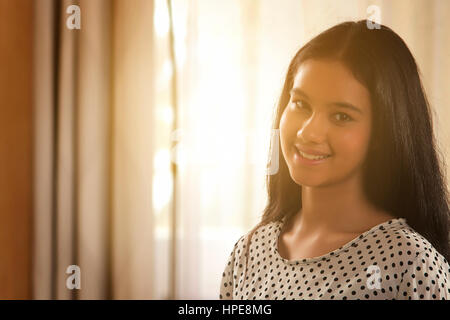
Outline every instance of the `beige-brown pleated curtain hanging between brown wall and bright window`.
<svg viewBox="0 0 450 320"><path fill-rule="evenodd" d="M35 299L152 298L152 8L35 6Z"/></svg>

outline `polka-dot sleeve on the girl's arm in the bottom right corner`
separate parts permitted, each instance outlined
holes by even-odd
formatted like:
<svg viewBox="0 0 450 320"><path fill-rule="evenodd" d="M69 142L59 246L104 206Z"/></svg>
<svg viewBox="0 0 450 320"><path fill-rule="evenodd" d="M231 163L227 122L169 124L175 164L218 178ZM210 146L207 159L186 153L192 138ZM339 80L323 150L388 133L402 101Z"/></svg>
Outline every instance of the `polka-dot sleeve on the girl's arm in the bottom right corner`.
<svg viewBox="0 0 450 320"><path fill-rule="evenodd" d="M449 300L448 261L436 250L426 249L420 253L404 272L396 299Z"/></svg>

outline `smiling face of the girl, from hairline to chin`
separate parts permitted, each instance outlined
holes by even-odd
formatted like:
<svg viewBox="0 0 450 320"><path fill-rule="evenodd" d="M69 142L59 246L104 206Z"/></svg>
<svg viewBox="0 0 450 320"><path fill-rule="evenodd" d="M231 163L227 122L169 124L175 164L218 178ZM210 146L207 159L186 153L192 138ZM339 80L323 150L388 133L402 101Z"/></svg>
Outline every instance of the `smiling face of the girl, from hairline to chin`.
<svg viewBox="0 0 450 320"><path fill-rule="evenodd" d="M280 120L292 179L309 187L360 177L371 132L369 91L342 63L306 60Z"/></svg>

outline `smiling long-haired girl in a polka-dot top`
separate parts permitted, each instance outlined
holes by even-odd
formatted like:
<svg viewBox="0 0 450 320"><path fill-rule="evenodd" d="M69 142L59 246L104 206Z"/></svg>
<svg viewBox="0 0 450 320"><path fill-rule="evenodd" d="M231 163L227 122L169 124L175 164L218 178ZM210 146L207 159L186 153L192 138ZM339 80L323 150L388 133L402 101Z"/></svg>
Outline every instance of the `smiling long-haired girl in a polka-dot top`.
<svg viewBox="0 0 450 320"><path fill-rule="evenodd" d="M292 59L279 171L221 299L448 299L449 200L418 67L386 26L345 22Z"/></svg>

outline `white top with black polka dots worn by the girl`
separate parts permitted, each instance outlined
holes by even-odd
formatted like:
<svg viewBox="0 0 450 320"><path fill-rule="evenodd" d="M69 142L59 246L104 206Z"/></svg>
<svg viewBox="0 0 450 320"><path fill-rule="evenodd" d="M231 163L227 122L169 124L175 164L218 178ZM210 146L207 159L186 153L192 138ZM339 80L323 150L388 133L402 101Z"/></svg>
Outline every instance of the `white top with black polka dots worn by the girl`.
<svg viewBox="0 0 450 320"><path fill-rule="evenodd" d="M437 299L450 297L448 261L404 218L380 223L325 255L287 260L278 253L285 218L234 245L220 299Z"/></svg>

